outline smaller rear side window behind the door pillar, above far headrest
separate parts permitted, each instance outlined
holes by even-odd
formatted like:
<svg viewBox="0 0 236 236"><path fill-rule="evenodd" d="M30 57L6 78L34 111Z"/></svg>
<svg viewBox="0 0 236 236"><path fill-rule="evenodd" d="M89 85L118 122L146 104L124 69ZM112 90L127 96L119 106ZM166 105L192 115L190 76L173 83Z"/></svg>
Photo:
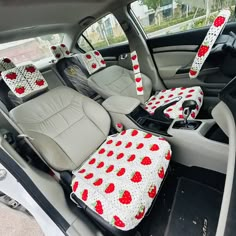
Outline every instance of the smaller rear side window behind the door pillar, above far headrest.
<svg viewBox="0 0 236 236"><path fill-rule="evenodd" d="M84 51L89 51L91 50L90 45L94 49L101 49L125 42L127 42L127 38L123 29L115 16L109 14L83 32L78 40L78 46Z"/></svg>

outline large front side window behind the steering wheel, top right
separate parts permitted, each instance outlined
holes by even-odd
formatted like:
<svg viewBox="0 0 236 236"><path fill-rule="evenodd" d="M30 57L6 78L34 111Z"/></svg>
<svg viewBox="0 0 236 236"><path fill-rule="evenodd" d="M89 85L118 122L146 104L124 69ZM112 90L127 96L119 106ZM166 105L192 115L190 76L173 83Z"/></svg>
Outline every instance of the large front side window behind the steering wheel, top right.
<svg viewBox="0 0 236 236"><path fill-rule="evenodd" d="M138 0L131 10L148 38L210 25L223 8L234 15L235 1Z"/></svg>

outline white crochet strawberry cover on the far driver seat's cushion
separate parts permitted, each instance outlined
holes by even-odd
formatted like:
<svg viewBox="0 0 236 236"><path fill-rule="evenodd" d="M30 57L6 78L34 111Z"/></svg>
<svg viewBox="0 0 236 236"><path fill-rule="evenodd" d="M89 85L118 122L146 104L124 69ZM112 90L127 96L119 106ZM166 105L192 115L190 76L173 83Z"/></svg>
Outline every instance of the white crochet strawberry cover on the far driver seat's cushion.
<svg viewBox="0 0 236 236"><path fill-rule="evenodd" d="M165 116L171 119L183 119L183 102L186 100L195 100L197 102L197 107L191 112L190 116L192 119L196 118L203 103L203 91L199 86L162 90L145 103L145 109L150 114L154 114L157 108L171 103L178 97L180 99L179 101L164 110Z"/></svg>

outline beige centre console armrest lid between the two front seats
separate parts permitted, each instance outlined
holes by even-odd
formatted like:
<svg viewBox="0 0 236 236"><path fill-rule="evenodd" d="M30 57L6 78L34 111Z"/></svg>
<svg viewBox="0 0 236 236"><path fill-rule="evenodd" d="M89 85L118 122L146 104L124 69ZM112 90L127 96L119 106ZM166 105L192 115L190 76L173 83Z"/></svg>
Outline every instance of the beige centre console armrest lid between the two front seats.
<svg viewBox="0 0 236 236"><path fill-rule="evenodd" d="M108 112L125 115L130 114L139 104L138 99L125 96L111 96L102 103Z"/></svg>

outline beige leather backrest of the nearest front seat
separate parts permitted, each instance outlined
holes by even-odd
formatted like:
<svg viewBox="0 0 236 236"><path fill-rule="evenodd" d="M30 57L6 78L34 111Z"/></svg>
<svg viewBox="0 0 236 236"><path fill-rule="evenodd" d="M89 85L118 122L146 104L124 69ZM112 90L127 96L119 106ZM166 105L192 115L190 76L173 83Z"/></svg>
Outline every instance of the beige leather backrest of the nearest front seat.
<svg viewBox="0 0 236 236"><path fill-rule="evenodd" d="M65 86L25 102L9 114L57 171L78 168L110 130L110 117L101 105Z"/></svg>

